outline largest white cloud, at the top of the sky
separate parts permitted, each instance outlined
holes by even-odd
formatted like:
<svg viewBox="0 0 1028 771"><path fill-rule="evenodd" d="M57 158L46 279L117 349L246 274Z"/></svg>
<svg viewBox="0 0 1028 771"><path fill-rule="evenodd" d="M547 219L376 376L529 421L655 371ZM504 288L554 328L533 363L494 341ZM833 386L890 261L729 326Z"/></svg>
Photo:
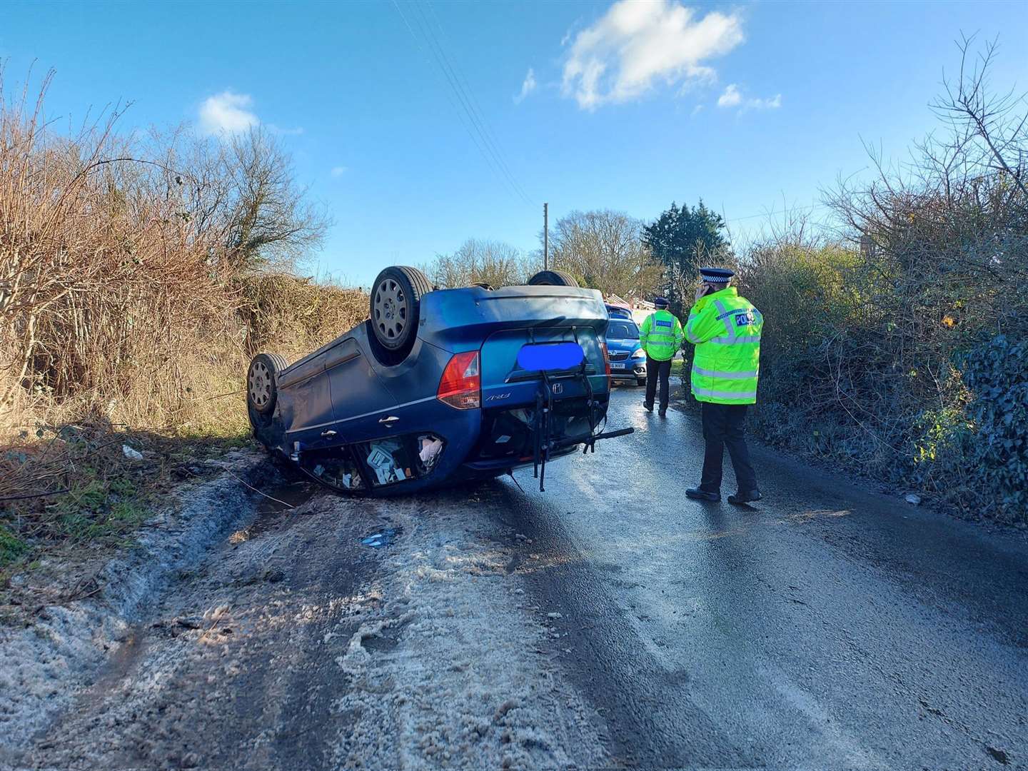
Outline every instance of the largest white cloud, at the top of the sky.
<svg viewBox="0 0 1028 771"><path fill-rule="evenodd" d="M738 13L710 11L697 17L675 0L619 0L591 27L575 36L564 63L563 94L579 107L636 99L655 80L710 82L702 64L743 41Z"/></svg>

